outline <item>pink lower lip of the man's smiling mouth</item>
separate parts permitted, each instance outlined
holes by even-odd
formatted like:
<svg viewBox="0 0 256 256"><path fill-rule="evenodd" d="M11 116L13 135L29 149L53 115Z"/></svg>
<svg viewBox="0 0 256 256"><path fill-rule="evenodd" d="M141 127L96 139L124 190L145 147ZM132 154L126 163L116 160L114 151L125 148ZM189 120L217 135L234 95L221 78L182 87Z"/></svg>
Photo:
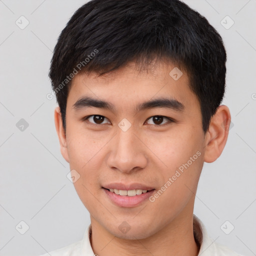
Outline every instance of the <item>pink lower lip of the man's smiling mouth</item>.
<svg viewBox="0 0 256 256"><path fill-rule="evenodd" d="M145 201L155 189L147 191L146 193L136 194L133 196L129 195L119 195L114 192L108 191L106 188L103 188L108 198L120 207L134 207Z"/></svg>

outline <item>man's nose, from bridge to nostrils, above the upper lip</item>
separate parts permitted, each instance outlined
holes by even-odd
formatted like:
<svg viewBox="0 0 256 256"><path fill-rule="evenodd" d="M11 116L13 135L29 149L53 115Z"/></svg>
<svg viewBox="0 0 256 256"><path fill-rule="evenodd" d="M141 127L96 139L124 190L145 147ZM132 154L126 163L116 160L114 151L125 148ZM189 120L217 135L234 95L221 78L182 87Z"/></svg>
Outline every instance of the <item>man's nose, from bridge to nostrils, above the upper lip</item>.
<svg viewBox="0 0 256 256"><path fill-rule="evenodd" d="M148 161L147 148L141 142L143 138L138 139L138 137L139 135L134 133L131 127L126 131L117 128L115 136L108 145L107 165L126 173L145 168Z"/></svg>

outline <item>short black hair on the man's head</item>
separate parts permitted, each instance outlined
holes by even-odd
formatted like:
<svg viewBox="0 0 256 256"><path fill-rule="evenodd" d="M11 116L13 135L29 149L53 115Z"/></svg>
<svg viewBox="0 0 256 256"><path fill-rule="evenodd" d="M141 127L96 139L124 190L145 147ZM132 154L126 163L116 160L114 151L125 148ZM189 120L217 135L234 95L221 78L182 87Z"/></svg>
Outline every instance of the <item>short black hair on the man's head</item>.
<svg viewBox="0 0 256 256"><path fill-rule="evenodd" d="M129 61L146 67L155 58L187 72L205 134L224 95L226 52L207 19L179 0L91 0L74 12L49 71L64 130L72 74L102 75Z"/></svg>

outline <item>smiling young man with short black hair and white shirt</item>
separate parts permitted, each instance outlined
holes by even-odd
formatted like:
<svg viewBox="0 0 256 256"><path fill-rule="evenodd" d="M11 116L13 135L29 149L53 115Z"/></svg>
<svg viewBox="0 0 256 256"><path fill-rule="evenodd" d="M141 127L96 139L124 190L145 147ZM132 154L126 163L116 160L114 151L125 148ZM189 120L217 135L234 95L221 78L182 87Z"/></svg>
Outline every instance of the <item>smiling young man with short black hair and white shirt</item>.
<svg viewBox="0 0 256 256"><path fill-rule="evenodd" d="M238 255L193 215L203 162L228 136L225 61L220 35L178 0L92 0L73 14L49 76L91 224L50 255Z"/></svg>

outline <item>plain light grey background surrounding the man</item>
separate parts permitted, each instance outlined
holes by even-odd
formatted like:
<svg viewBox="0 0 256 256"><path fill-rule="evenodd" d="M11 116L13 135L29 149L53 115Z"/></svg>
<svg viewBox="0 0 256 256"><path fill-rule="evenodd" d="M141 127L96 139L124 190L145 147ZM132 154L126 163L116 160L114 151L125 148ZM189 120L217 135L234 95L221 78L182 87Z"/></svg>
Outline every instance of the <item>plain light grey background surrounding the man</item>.
<svg viewBox="0 0 256 256"><path fill-rule="evenodd" d="M228 58L223 104L233 123L222 155L204 164L194 213L216 242L256 255L256 0L185 2L223 38ZM46 98L56 39L83 3L0 0L0 255L38 255L63 247L80 240L90 222L66 177L69 165L60 154L53 119L55 98ZM24 29L15 24L25 24L21 15L29 21ZM226 15L234 21L228 29ZM21 118L28 123L23 131L16 126ZM24 234L21 220L29 226ZM229 234L221 229L226 220L226 232L234 226Z"/></svg>

